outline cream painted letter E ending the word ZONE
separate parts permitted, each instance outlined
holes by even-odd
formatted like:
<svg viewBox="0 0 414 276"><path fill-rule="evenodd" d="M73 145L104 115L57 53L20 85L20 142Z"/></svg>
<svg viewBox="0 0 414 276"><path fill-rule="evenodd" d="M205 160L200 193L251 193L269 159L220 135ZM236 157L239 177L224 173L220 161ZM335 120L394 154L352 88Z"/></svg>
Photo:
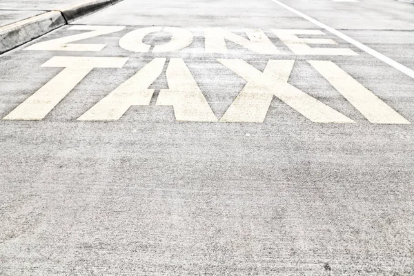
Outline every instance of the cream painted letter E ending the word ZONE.
<svg viewBox="0 0 414 276"><path fill-rule="evenodd" d="M358 54L348 48L311 48L308 44L337 44L332 39L300 39L296 34L325 35L320 30L272 30L280 40L296 55L344 55L357 56Z"/></svg>

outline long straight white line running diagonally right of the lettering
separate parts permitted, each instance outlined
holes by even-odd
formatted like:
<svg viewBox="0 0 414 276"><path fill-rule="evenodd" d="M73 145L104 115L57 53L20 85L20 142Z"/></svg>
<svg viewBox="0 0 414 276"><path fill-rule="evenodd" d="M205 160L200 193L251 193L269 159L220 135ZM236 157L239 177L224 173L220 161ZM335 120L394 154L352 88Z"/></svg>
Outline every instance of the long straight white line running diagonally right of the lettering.
<svg viewBox="0 0 414 276"><path fill-rule="evenodd" d="M270 0L270 1L273 1L273 3L277 3L277 5L283 8L286 8L286 10L290 10L290 12L293 12L299 15L299 17L302 17L303 19L306 19L310 21L311 23L314 23L316 26L319 26L320 28L324 28L328 32L335 34L337 37L344 39L344 41L351 43L353 46L359 48L360 50L363 50L364 52L368 53L369 55L372 55L373 57L376 57L377 59L380 59L381 61L384 61L389 66L393 66L393 68L399 70L400 72L404 73L408 77L412 77L414 79L414 70L402 65L401 63L398 63L397 61L393 59L390 59L389 57L382 55L380 52L377 52L373 50L372 48L365 46L364 44L360 43L359 41L356 41L355 39L351 39L351 37L348 37L346 34L343 34L342 32L339 32L338 30L335 30L334 28L331 28L325 25L324 23L321 23L313 19L312 17L308 17L306 14L299 12L298 10L295 10L294 8L290 8L289 6L285 5L284 3L280 1L277 1L277 0Z"/></svg>

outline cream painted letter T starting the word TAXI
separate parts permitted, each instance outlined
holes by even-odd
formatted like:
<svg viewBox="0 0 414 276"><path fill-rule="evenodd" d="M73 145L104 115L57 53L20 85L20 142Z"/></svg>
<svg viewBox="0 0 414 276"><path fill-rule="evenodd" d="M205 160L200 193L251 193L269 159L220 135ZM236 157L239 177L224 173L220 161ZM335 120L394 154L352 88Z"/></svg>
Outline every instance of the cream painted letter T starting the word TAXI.
<svg viewBox="0 0 414 276"><path fill-rule="evenodd" d="M65 67L3 120L41 120L93 68L121 68L128 57L52 57L42 67Z"/></svg>

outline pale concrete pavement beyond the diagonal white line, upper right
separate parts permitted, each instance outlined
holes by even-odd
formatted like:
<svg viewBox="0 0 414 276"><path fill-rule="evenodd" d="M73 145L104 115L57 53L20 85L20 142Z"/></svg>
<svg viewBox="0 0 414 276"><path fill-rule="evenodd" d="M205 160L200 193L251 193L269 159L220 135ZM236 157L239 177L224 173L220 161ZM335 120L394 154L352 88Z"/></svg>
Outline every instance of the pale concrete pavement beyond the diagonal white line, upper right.
<svg viewBox="0 0 414 276"><path fill-rule="evenodd" d="M332 28L341 30L387 57L414 68L411 50L414 39L413 3L389 0L319 0L313 1L313 5L306 1L288 0L284 3Z"/></svg>

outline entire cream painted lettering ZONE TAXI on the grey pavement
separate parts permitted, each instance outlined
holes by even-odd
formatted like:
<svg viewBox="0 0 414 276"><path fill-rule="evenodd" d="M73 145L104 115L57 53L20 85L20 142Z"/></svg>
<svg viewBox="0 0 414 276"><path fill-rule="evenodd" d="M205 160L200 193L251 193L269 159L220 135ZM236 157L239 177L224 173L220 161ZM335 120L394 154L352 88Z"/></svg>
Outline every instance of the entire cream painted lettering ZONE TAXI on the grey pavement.
<svg viewBox="0 0 414 276"><path fill-rule="evenodd" d="M43 41L25 50L63 50L99 52L105 44L70 43L102 34L117 32L117 26L72 26L73 30L91 30L82 34ZM152 52L174 52L185 48L193 41L193 34L181 28L141 28L128 32L119 40L119 46L134 52L148 52L150 45L143 42L152 32L169 32L170 41L156 45ZM347 48L311 48L309 43L333 44L331 39L300 39L296 34L320 34L318 30L273 30L295 55L358 55ZM226 53L226 40L233 41L259 54L277 55L279 50L259 29L246 29L249 39L221 28L205 30L205 51ZM322 33L323 34L323 33ZM210 108L203 92L197 85L184 59L169 59L166 69L168 89L161 89L157 106L172 106L178 121L198 122L250 122L265 120L273 97L284 101L310 121L317 123L355 123L325 103L288 83L295 60L268 59L264 71L242 59L216 59L217 62L242 77L246 85L219 119ZM122 68L128 57L52 57L42 67L63 68L28 99L14 108L5 120L41 120L94 68ZM162 74L166 58L154 58L138 70L115 90L91 106L77 120L113 121L121 118L131 106L149 106L155 89L151 84ZM331 85L373 124L410 124L398 112L375 96L332 61L308 60Z"/></svg>

